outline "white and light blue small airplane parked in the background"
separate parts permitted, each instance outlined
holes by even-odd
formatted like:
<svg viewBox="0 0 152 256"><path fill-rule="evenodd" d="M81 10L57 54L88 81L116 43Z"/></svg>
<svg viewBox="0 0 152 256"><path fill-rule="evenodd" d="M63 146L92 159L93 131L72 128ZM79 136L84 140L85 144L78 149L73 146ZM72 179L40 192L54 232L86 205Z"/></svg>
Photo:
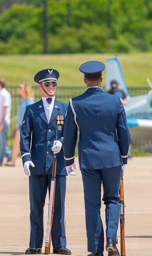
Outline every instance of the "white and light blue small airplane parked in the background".
<svg viewBox="0 0 152 256"><path fill-rule="evenodd" d="M127 96L127 106L125 107L127 123L133 141L147 140L145 145L148 146L148 140L152 139L152 83L146 78L151 90L146 95L129 96L129 91L121 68L118 56L107 59L106 63L106 86L109 90L111 80L117 80L118 88L124 90ZM136 144L136 142L135 142Z"/></svg>

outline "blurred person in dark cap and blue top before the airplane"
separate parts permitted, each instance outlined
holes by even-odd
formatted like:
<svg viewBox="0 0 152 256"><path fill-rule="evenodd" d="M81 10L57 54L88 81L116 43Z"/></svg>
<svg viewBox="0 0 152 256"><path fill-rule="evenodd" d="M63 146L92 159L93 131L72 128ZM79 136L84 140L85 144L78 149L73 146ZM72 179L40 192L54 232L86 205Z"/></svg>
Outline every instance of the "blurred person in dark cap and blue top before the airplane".
<svg viewBox="0 0 152 256"><path fill-rule="evenodd" d="M111 89L107 90L106 92L112 95L117 95L121 99L123 106L127 105L127 97L123 90L118 88L118 82L116 80L112 80L110 83Z"/></svg>

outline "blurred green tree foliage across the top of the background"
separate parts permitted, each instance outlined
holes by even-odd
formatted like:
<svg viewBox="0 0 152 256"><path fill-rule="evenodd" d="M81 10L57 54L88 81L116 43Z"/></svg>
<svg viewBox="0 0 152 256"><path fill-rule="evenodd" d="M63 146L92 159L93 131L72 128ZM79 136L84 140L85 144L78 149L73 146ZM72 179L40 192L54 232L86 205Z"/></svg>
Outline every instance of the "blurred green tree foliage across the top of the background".
<svg viewBox="0 0 152 256"><path fill-rule="evenodd" d="M151 0L0 1L0 54L152 52Z"/></svg>

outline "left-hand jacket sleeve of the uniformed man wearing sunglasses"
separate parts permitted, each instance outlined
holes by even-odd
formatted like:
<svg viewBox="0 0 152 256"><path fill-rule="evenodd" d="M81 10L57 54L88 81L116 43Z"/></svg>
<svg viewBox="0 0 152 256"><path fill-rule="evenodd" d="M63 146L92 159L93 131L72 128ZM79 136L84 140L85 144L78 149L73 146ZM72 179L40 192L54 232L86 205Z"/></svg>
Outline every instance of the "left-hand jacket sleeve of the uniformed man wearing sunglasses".
<svg viewBox="0 0 152 256"><path fill-rule="evenodd" d="M29 114L29 110L26 107L20 130L20 151L23 164L26 161L32 161L30 155L32 126L32 119Z"/></svg>

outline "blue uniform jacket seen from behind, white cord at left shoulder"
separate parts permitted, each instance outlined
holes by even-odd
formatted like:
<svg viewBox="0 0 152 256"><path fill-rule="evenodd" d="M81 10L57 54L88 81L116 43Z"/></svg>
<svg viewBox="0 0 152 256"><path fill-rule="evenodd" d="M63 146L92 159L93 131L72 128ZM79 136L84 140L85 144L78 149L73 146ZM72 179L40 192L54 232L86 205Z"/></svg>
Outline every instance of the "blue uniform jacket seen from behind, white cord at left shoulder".
<svg viewBox="0 0 152 256"><path fill-rule="evenodd" d="M64 124L66 166L74 163L78 127L80 170L103 169L127 164L130 133L118 96L101 88L88 88L70 99Z"/></svg>

